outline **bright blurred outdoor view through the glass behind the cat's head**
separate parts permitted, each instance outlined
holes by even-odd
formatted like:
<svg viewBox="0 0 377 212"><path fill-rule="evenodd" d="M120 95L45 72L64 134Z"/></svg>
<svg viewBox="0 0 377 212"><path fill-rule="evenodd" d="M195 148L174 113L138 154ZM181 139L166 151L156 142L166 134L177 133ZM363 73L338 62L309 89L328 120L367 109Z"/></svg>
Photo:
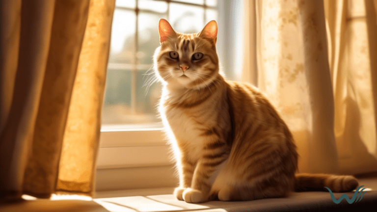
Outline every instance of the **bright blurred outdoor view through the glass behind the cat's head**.
<svg viewBox="0 0 377 212"><path fill-rule="evenodd" d="M153 75L153 53L160 45L158 23L197 33L217 20L217 0L116 0L108 61L103 127L160 126L161 84Z"/></svg>

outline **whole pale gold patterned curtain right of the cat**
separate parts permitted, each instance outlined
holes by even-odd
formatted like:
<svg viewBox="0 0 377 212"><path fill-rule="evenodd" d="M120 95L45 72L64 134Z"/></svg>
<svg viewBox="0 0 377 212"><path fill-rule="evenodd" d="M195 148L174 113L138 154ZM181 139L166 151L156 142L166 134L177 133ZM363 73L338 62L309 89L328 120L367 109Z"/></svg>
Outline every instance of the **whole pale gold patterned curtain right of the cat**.
<svg viewBox="0 0 377 212"><path fill-rule="evenodd" d="M244 4L243 76L293 132L299 171L376 171L377 0Z"/></svg>

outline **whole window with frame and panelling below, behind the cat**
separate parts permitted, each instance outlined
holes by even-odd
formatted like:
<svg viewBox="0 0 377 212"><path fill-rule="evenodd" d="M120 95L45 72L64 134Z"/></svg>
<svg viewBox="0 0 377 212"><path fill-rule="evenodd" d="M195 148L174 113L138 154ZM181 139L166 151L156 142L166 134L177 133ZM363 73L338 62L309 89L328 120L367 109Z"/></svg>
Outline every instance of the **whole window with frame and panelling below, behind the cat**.
<svg viewBox="0 0 377 212"><path fill-rule="evenodd" d="M178 32L196 33L216 20L217 51L223 52L219 57L227 67L229 64L224 62L231 60L224 60L228 56L224 53L233 46L224 45L225 36L229 36L229 29L224 26L236 22L230 10L223 0L116 0L97 159L97 190L177 184L158 118L162 88L160 83L149 81L152 56L160 45L158 23L164 18Z"/></svg>

